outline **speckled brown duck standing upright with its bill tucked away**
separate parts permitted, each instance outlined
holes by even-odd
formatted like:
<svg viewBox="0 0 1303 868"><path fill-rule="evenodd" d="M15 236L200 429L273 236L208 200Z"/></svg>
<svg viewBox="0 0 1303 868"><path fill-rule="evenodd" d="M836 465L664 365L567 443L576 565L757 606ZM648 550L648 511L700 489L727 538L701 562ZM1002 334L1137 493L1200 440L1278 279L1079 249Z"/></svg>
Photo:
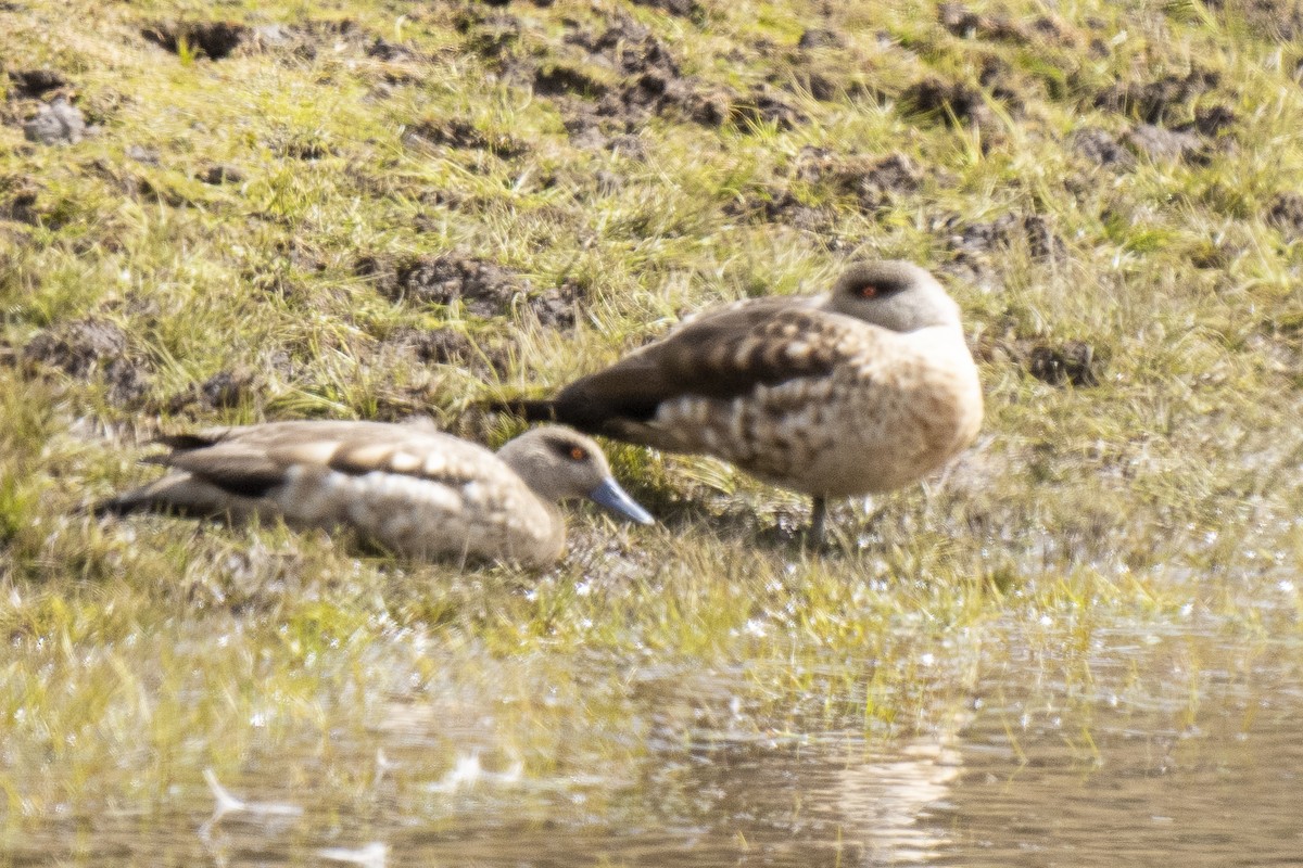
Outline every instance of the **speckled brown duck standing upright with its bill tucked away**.
<svg viewBox="0 0 1303 868"><path fill-rule="evenodd" d="M981 426L959 306L907 262L852 264L821 295L705 311L555 397L506 405L534 422L704 453L813 497L921 479Z"/></svg>

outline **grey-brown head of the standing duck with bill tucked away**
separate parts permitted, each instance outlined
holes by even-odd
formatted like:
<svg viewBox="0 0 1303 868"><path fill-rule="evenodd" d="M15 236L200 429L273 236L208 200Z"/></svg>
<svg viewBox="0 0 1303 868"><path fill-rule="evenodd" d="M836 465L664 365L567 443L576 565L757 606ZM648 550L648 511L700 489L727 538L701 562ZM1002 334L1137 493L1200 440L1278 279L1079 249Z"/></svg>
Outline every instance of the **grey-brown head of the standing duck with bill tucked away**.
<svg viewBox="0 0 1303 868"><path fill-rule="evenodd" d="M833 286L829 308L893 332L959 328L959 306L937 278L899 259L853 263Z"/></svg>

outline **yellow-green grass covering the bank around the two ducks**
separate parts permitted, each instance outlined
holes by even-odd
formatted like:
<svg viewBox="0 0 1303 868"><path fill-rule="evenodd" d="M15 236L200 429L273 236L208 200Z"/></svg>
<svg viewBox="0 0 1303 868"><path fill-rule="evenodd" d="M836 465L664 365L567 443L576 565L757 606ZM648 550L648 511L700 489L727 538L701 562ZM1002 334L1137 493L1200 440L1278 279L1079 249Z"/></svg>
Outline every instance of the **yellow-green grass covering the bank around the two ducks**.
<svg viewBox="0 0 1303 868"><path fill-rule="evenodd" d="M65 803L158 809L171 787L202 791L207 765L229 780L313 739L383 743L397 708L490 720L438 738L435 777L468 743L539 777L636 776L666 695L731 692L757 731L893 739L942 726L1005 668L1085 696L1161 685L1167 640L1096 671L1119 630L1195 619L1303 660L1303 221L1278 208L1303 182L1303 92L1252 4L1083 0L1037 29L1042 4L975 3L968 36L923 3L739 0L702 25L616 0L228 3L250 30L220 60L141 36L207 4L9 5L5 70L57 70L96 130L25 142L39 99L0 82L0 841ZM797 49L813 26L839 44ZM659 74L694 99L770 94L797 120L640 109L618 49L567 38L610 27L654 39L675 59ZM549 64L586 83L533 92ZM1110 88L1191 70L1217 81L1169 96L1160 126L1233 115L1191 134L1196 156L1098 164L1079 146L1102 130L1130 154L1140 109ZM915 111L928 78L975 102ZM472 144L435 141L457 129ZM855 186L889 155L917 177ZM238 180L205 181L214 167ZM1029 217L1048 250L1007 229ZM386 293L362 267L444 254L500 265L513 294L481 315ZM839 506L830 553L770 530L804 521L799 498L618 445L663 524L572 514L571 554L541 576L77 511L151 474L137 459L158 429L430 413L500 442L511 423L478 401L590 371L687 310L825 285L853 255L945 277L988 419L877 523ZM552 290L573 323L545 321ZM93 345L86 323L119 342ZM412 334L437 329L469 349L420 358ZM1031 376L1031 349L1072 340L1105 360L1098 385ZM675 709L667 730L691 738Z"/></svg>

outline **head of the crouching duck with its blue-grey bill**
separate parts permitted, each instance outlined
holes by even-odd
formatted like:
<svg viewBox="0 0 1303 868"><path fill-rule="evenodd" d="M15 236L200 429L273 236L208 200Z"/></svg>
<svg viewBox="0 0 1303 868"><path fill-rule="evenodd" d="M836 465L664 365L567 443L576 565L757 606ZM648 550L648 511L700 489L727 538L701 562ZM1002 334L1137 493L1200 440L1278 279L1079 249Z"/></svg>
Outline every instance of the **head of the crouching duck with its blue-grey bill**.
<svg viewBox="0 0 1303 868"><path fill-rule="evenodd" d="M577 431L542 426L506 442L498 457L547 502L586 497L638 524L654 521L611 476L602 448Z"/></svg>

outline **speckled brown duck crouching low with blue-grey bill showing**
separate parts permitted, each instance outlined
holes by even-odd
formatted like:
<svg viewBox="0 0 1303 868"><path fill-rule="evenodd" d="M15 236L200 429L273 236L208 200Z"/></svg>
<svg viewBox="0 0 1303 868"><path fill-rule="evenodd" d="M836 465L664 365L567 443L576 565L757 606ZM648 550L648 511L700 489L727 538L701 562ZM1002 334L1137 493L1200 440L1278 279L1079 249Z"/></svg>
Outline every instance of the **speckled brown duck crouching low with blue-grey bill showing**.
<svg viewBox="0 0 1303 868"><path fill-rule="evenodd" d="M421 424L274 422L160 439L173 472L103 501L98 513L280 515L296 527L351 526L408 557L545 567L566 550L556 504L588 497L648 524L601 448L547 426L496 453Z"/></svg>

